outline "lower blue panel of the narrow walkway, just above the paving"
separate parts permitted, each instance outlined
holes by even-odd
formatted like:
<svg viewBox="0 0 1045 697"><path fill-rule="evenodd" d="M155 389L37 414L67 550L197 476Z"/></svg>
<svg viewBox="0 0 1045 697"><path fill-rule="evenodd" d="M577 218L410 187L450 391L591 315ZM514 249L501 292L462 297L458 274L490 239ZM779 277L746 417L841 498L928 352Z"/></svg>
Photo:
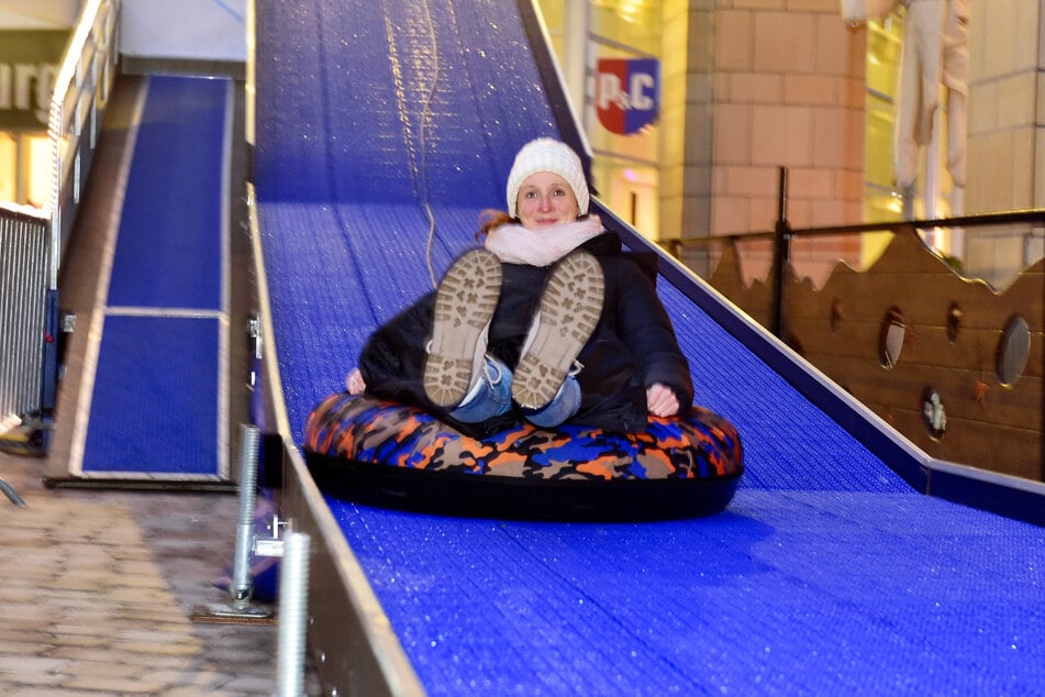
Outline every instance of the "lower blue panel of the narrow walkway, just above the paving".
<svg viewBox="0 0 1045 697"><path fill-rule="evenodd" d="M85 473L215 475L216 318L105 318Z"/></svg>

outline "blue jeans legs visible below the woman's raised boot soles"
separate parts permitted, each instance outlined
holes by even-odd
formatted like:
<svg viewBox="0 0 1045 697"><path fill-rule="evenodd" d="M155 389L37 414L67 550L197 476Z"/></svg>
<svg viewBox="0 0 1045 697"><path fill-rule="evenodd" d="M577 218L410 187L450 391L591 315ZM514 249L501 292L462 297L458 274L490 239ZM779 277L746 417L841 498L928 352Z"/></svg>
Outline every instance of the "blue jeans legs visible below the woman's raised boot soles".
<svg viewBox="0 0 1045 697"><path fill-rule="evenodd" d="M478 423L508 413L512 408L512 372L497 358L486 356L479 381L451 416L465 423ZM559 391L541 409L524 409L526 420L542 428L556 427L580 409L580 385L567 376Z"/></svg>

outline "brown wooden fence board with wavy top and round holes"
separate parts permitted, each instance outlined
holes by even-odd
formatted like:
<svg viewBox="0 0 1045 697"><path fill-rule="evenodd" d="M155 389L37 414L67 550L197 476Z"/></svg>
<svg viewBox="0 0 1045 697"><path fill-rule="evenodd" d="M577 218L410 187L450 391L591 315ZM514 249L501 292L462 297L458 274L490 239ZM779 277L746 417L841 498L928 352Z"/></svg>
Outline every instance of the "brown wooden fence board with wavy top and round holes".
<svg viewBox="0 0 1045 697"><path fill-rule="evenodd" d="M710 280L769 325L771 278L746 286L731 245ZM785 340L933 457L1045 480L1045 261L997 291L963 278L912 226L866 272L840 263L819 290L789 268L783 308ZM887 367L880 338L896 311L904 338ZM1019 379L1003 385L998 356L1015 316L1026 321L1030 353ZM923 418L927 389L944 407L942 432Z"/></svg>

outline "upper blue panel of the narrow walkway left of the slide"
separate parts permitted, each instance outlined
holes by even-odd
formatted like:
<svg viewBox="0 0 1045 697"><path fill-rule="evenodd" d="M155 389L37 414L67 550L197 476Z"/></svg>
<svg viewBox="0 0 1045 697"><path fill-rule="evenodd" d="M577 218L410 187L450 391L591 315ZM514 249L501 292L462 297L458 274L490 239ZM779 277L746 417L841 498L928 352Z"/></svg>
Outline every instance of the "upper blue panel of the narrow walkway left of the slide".
<svg viewBox="0 0 1045 697"><path fill-rule="evenodd" d="M148 78L110 306L221 308L230 89L227 78Z"/></svg>

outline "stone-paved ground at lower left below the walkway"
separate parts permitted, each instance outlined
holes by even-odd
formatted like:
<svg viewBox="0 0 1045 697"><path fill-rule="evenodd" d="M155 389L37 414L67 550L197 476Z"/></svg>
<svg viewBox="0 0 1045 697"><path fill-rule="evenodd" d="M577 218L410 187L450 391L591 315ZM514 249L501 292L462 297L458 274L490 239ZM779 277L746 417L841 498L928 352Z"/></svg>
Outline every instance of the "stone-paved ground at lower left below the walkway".
<svg viewBox="0 0 1045 697"><path fill-rule="evenodd" d="M227 595L229 494L48 489L0 453L0 694L273 695L277 628L193 622ZM321 694L309 674L309 694Z"/></svg>

